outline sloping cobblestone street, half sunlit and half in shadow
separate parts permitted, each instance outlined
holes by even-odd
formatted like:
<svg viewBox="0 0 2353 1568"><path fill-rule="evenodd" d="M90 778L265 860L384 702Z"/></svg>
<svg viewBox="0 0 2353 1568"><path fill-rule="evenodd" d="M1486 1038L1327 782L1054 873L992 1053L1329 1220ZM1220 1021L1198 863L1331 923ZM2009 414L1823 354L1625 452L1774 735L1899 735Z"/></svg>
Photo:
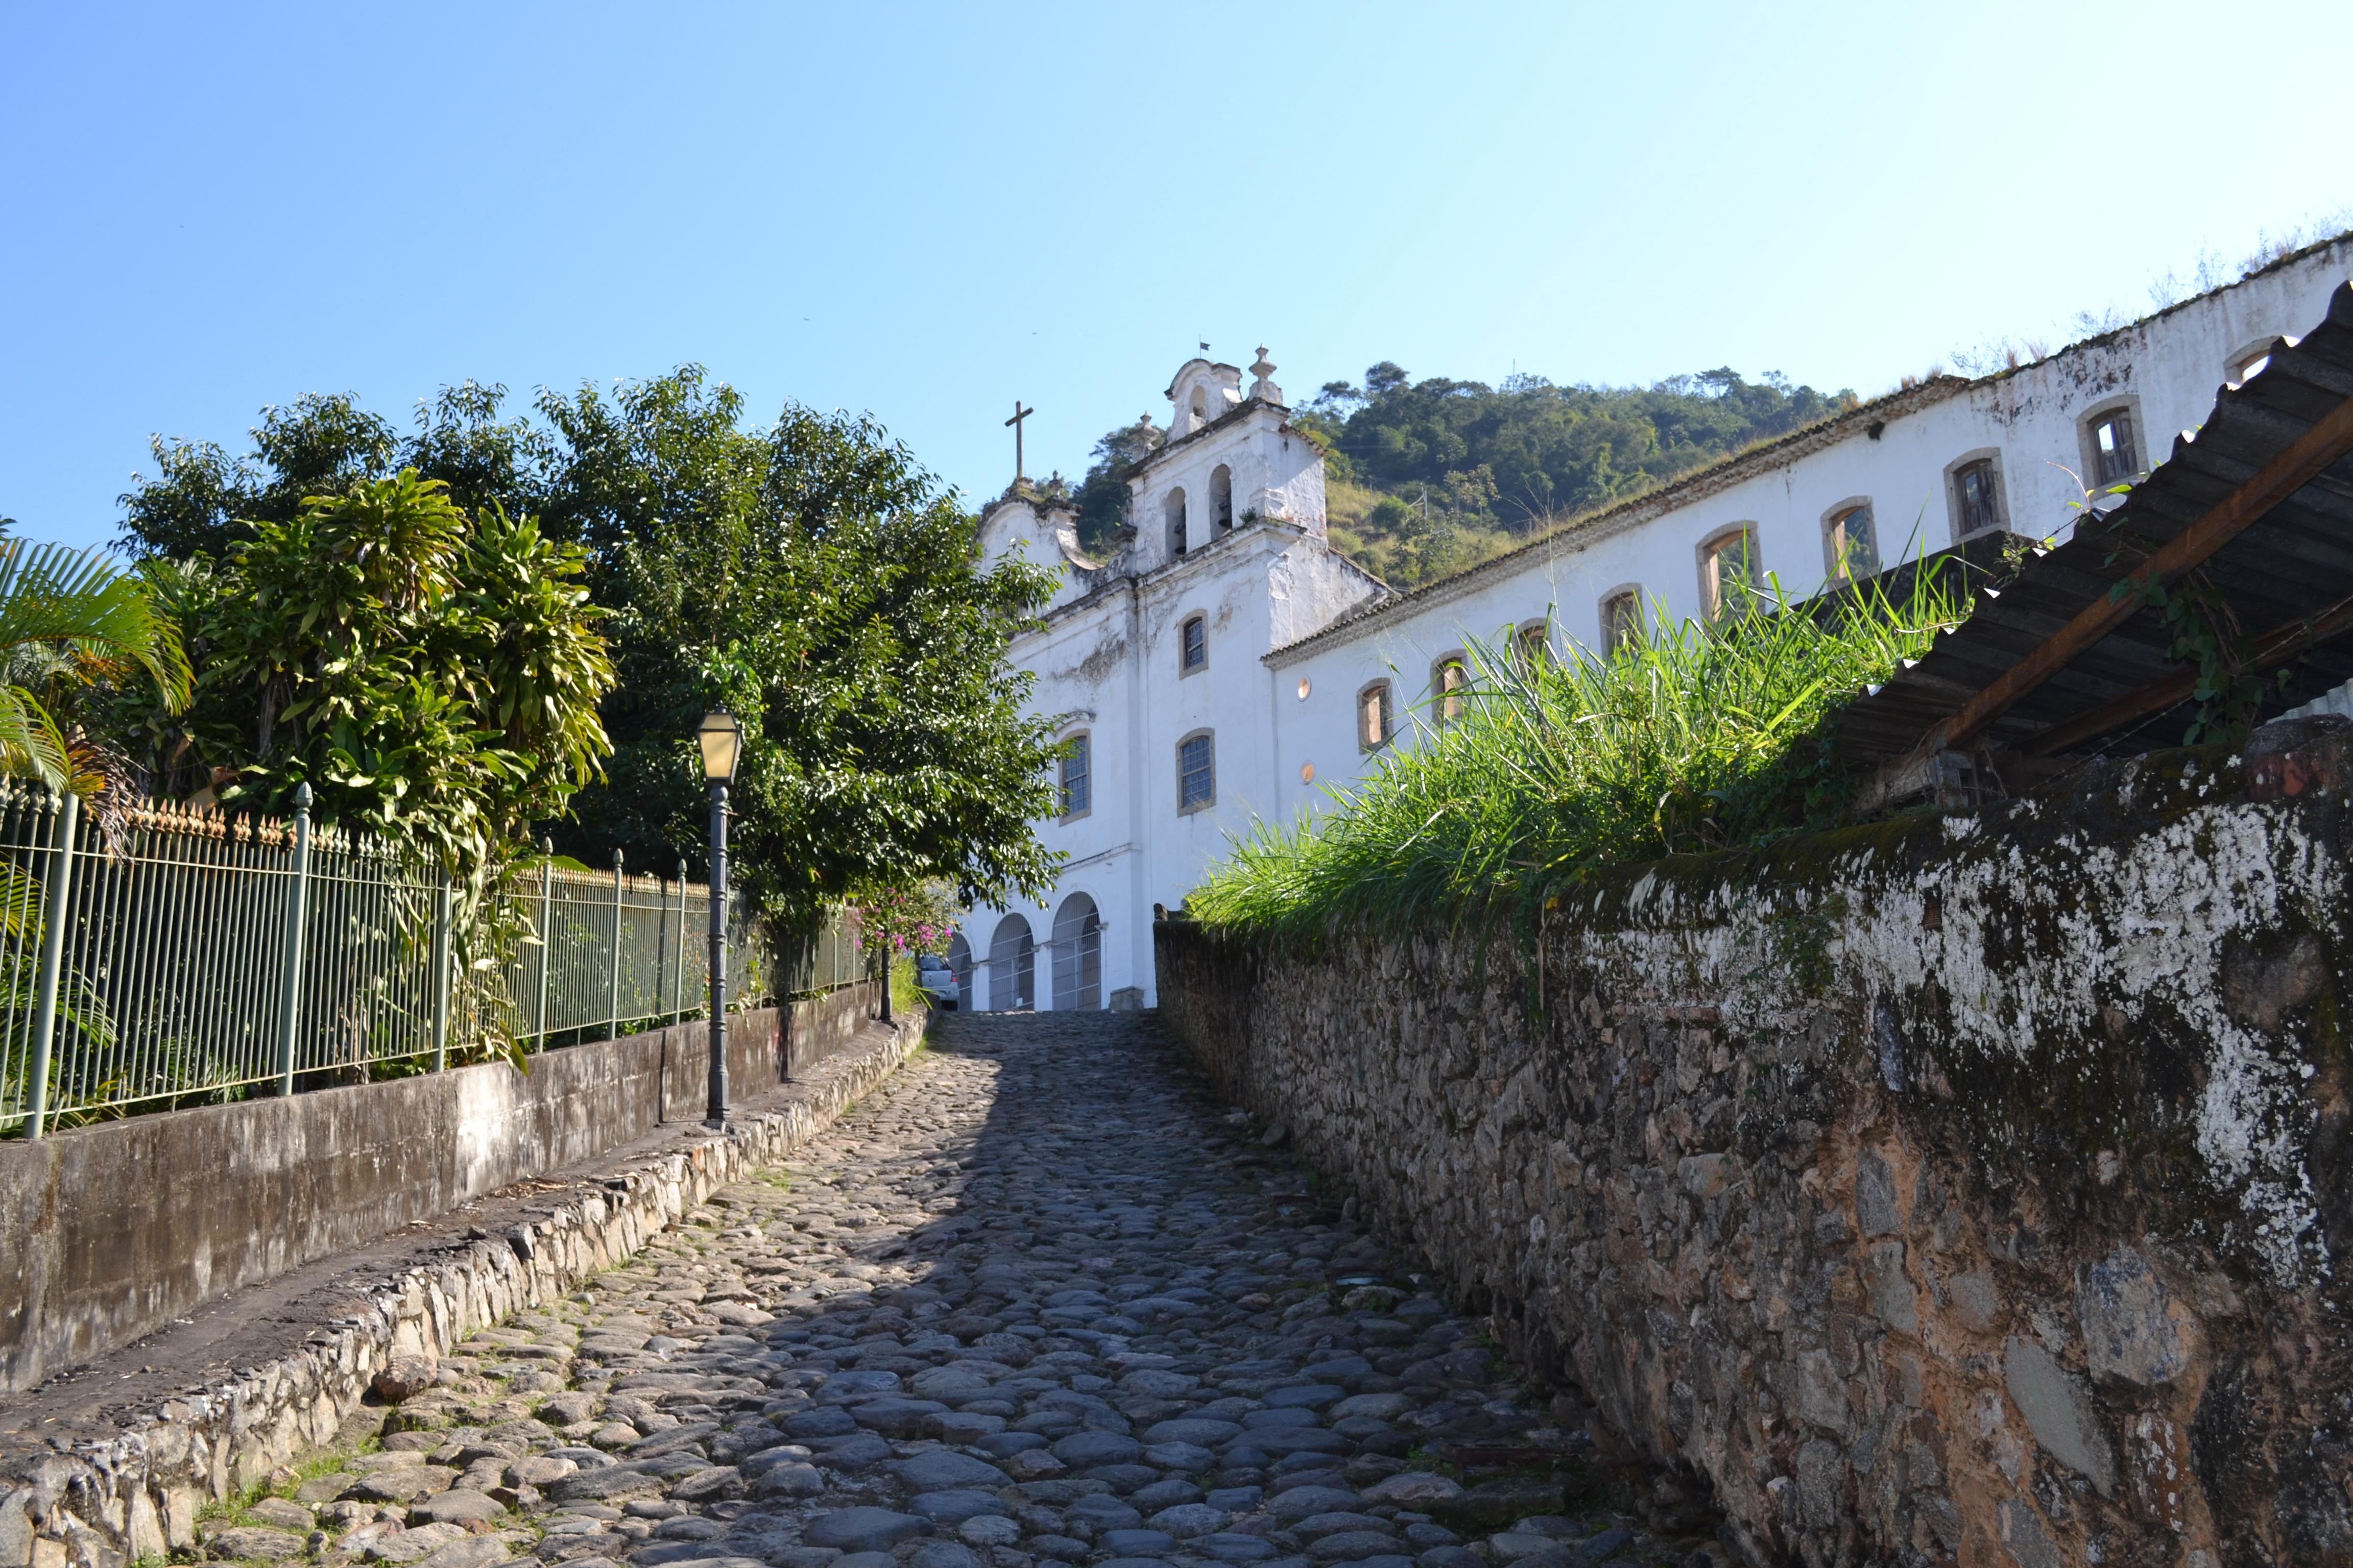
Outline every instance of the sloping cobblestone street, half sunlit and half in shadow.
<svg viewBox="0 0 2353 1568"><path fill-rule="evenodd" d="M1132 1013L946 1016L802 1159L473 1335L216 1559L485 1568L1706 1563ZM1697 1552L1694 1552L1697 1547ZM591 1561L602 1559L602 1561Z"/></svg>

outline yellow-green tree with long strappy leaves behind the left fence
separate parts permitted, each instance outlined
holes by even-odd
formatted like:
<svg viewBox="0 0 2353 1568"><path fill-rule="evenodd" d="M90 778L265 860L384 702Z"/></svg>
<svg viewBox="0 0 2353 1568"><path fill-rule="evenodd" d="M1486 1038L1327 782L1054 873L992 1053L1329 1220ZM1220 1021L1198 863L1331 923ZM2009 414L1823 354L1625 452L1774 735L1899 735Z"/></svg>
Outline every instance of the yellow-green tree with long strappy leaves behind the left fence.
<svg viewBox="0 0 2353 1568"><path fill-rule="evenodd" d="M186 724L151 766L224 802L398 832L480 875L565 811L609 750L614 672L586 552L496 503L468 517L402 468L256 520L221 564L151 569L193 632Z"/></svg>

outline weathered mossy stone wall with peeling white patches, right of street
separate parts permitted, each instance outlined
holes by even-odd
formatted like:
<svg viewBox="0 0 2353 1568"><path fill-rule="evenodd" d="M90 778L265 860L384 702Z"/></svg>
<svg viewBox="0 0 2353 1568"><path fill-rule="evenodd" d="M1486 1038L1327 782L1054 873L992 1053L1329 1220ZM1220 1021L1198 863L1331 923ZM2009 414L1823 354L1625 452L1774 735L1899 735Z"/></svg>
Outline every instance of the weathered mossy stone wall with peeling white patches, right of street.
<svg viewBox="0 0 2353 1568"><path fill-rule="evenodd" d="M1748 1561L2346 1563L2346 799L2245 776L1675 858L1541 933L1162 924L1162 1011Z"/></svg>

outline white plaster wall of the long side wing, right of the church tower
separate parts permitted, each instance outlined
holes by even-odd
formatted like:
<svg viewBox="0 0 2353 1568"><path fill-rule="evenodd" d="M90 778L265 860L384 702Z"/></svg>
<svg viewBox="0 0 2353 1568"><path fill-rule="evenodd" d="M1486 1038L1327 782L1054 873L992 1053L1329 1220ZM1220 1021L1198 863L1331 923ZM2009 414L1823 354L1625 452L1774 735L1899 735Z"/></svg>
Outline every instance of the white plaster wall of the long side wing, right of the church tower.
<svg viewBox="0 0 2353 1568"><path fill-rule="evenodd" d="M1948 378L1885 407L1812 433L1781 449L1737 458L1675 484L1657 501L1546 541L1504 562L1426 588L1377 614L1278 649L1268 665L1280 691L1306 677L1308 703L1278 703L1278 816L1322 809L1320 783L1369 769L1355 743L1358 689L1395 670L1400 712L1421 701L1431 663L1471 639L1551 616L1555 649L1600 646L1600 604L1640 588L1668 618L1701 614L1699 550L1734 524L1751 524L1762 569L1793 595L1826 576L1821 529L1838 505L1868 501L1882 559L1941 550L1960 534L1946 470L1965 454L1995 454L2007 524L2017 534L2064 536L2089 484L2085 416L2129 400L2151 463L2174 435L2195 428L2247 348L2294 336L2327 315L2329 292L2353 273L2353 242L2325 244L2297 261L2165 315L2066 348L2017 371ZM1873 430L1875 428L1875 430ZM2082 482L2078 484L2078 477ZM1329 693L1329 696L1322 696ZM1412 736L1407 736L1412 743ZM1299 783L1315 766L1318 785Z"/></svg>

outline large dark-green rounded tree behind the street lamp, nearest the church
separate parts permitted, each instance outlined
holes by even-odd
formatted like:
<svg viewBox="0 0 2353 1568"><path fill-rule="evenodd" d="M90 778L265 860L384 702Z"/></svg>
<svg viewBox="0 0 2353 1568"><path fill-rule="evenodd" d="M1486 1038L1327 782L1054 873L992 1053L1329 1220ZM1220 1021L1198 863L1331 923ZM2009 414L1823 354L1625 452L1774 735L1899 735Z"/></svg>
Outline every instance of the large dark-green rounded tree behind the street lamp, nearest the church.
<svg viewBox="0 0 2353 1568"><path fill-rule="evenodd" d="M965 903L1042 891L1028 823L1056 750L1005 642L1052 578L984 569L974 520L864 418L748 430L694 369L541 409L569 454L551 515L598 552L621 658L576 842L701 863L689 736L725 705L746 733L732 863L769 914L927 879Z"/></svg>

